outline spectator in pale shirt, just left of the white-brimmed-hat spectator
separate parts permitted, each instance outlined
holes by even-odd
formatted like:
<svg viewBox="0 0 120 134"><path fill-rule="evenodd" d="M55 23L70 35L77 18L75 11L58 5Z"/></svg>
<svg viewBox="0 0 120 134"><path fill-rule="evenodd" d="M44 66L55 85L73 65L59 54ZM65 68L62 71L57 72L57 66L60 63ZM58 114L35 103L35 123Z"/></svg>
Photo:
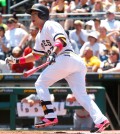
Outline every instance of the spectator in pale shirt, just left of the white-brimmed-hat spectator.
<svg viewBox="0 0 120 134"><path fill-rule="evenodd" d="M83 22L80 20L75 20L74 22L74 30L70 31L70 40L74 40L78 44L78 48L80 49L84 42L87 41L87 31L83 29Z"/></svg>

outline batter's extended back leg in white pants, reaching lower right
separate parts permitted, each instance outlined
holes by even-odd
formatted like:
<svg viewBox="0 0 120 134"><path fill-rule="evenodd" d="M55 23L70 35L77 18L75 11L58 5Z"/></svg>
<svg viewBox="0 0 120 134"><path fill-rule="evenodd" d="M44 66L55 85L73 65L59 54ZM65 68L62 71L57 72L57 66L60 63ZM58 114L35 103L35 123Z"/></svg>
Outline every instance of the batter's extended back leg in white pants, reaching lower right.
<svg viewBox="0 0 120 134"><path fill-rule="evenodd" d="M73 73L66 77L66 80L68 81L69 86L77 101L89 112L90 116L93 119L93 122L95 124L103 123L104 125L102 128L106 126L106 124L109 124L109 122L105 122L108 121L108 119L102 114L96 103L89 97L86 92L85 73Z"/></svg>

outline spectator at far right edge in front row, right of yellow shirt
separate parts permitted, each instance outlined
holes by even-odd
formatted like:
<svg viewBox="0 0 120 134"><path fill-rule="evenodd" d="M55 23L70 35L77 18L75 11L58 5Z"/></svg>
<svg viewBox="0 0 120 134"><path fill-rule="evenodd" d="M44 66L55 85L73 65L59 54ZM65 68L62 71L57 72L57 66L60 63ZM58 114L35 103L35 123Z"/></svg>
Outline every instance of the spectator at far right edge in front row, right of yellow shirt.
<svg viewBox="0 0 120 134"><path fill-rule="evenodd" d="M105 72L106 70L109 71L109 69L117 67L118 64L120 64L120 62L119 62L119 50L112 49L109 52L108 59L101 62L101 65L100 65L100 68L98 69L98 72Z"/></svg>

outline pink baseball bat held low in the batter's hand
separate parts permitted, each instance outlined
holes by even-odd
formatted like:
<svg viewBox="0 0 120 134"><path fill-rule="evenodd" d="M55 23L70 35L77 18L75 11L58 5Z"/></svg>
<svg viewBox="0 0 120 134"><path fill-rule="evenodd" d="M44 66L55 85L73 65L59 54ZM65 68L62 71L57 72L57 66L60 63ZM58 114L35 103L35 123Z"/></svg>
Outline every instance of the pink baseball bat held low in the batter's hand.
<svg viewBox="0 0 120 134"><path fill-rule="evenodd" d="M35 72L37 72L38 70L42 69L43 67L46 67L47 65L49 64L49 62L45 62L43 63L42 65L38 66L38 67L35 67L35 68L32 68L26 72L23 73L23 76L24 77L29 77L31 76L32 74L34 74Z"/></svg>

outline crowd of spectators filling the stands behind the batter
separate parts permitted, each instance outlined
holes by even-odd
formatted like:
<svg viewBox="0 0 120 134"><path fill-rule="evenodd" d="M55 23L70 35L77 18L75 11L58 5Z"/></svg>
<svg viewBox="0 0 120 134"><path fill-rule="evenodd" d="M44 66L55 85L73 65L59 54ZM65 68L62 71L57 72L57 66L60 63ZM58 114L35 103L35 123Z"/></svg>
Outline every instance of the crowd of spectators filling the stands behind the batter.
<svg viewBox="0 0 120 134"><path fill-rule="evenodd" d="M119 0L38 2L49 8L51 20L63 26L75 53L83 58L89 72L109 72L111 68L117 68L113 72L120 71L120 20L116 19L120 13ZM87 17L90 18L86 19ZM5 66L7 56L20 57L30 53L39 31L32 23L29 28L21 23L15 12L4 23L3 19L0 13L0 66ZM42 63L41 60L39 62ZM10 72L22 73L37 66L39 62L23 67L9 67ZM8 65L6 66L8 72ZM5 69L2 68L1 72L5 72Z"/></svg>

